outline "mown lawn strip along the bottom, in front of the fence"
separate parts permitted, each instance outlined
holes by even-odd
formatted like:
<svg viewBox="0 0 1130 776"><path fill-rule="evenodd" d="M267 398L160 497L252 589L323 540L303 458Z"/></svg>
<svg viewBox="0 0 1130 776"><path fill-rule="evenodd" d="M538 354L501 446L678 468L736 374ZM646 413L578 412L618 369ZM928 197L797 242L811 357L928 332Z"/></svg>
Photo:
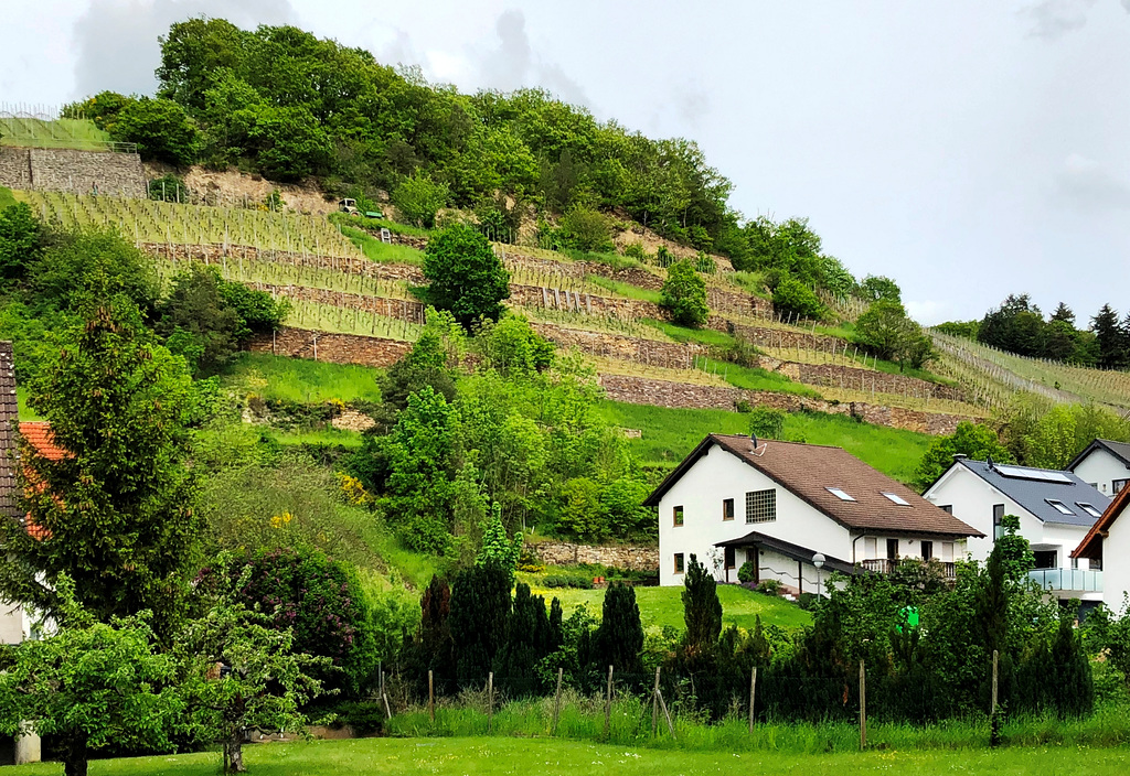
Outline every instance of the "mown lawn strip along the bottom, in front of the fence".
<svg viewBox="0 0 1130 776"><path fill-rule="evenodd" d="M245 748L252 776L486 776L564 774L566 776L658 776L659 774L790 774L794 776L907 776L959 773L966 776L1115 776L1130 767L1130 751L1040 747L956 751L868 751L788 755L779 752L701 752L637 749L558 740L504 738L362 739ZM218 753L101 760L93 776L212 776ZM0 774L61 774L56 764L0 768Z"/></svg>

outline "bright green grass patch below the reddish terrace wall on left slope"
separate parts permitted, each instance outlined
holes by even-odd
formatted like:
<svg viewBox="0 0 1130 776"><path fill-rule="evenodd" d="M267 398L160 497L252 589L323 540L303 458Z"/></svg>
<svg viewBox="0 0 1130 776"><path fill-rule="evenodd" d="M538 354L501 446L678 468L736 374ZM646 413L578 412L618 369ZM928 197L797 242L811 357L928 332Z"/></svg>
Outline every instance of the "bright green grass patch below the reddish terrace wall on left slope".
<svg viewBox="0 0 1130 776"><path fill-rule="evenodd" d="M380 402L376 378L382 370L290 359L270 353L240 353L224 369L225 388L264 399L319 403L339 399Z"/></svg>

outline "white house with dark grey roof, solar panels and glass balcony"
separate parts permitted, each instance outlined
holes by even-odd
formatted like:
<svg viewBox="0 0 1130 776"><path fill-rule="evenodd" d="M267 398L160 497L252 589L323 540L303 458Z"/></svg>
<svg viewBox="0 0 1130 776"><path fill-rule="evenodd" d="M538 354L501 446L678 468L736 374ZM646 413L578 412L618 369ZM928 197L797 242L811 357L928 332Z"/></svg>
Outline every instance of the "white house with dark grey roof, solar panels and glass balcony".
<svg viewBox="0 0 1130 776"><path fill-rule="evenodd" d="M981 531L968 543L973 559L989 557L1001 519L1014 514L1036 556L1033 579L1062 599L1102 598L1099 566L1070 555L1111 500L1077 475L957 457L923 495Z"/></svg>

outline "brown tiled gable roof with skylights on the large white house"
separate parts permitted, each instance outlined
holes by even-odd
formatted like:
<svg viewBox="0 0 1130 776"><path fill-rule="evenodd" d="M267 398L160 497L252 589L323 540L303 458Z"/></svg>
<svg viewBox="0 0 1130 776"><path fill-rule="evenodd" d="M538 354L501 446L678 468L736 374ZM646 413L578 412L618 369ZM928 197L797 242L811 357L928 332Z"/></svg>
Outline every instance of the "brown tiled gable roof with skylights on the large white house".
<svg viewBox="0 0 1130 776"><path fill-rule="evenodd" d="M918 493L878 471L843 448L758 440L757 452L748 436L711 434L687 456L647 501L658 506L663 494L714 444L733 453L812 508L853 530L935 536L984 536ZM837 487L854 501L843 501L827 488ZM903 506L884 495L890 493Z"/></svg>

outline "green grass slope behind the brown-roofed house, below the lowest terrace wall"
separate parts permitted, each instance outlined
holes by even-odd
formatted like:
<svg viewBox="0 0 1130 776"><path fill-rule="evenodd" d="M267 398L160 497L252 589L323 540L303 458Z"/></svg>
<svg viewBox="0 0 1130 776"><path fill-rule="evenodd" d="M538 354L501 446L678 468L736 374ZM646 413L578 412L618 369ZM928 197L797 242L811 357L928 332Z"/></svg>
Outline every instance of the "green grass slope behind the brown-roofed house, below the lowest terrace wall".
<svg viewBox="0 0 1130 776"><path fill-rule="evenodd" d="M749 431L748 416L724 409L669 409L602 402L599 412L610 423L640 429L643 436L628 443L641 460L652 464L678 464L709 433L745 434ZM785 418L784 436L844 448L904 483L914 480L919 461L933 441L928 434L820 413L790 414Z"/></svg>

